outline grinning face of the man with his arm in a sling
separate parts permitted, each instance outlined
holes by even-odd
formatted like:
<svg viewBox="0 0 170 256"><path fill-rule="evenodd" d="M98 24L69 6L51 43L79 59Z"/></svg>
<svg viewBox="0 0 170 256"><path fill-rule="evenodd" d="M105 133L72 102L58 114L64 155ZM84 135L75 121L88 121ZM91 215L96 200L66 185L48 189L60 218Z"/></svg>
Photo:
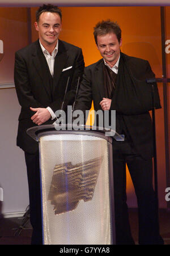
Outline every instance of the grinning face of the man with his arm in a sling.
<svg viewBox="0 0 170 256"><path fill-rule="evenodd" d="M120 47L122 45L122 39L120 43L118 42L115 33L107 33L104 36L97 36L97 48L101 56L109 64L109 66L114 66L120 56Z"/></svg>

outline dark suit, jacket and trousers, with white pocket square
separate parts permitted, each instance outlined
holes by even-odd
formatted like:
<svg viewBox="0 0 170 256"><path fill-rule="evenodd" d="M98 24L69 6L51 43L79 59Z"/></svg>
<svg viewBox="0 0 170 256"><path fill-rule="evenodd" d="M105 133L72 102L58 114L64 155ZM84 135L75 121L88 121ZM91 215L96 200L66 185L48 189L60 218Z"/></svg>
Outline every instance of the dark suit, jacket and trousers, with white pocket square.
<svg viewBox="0 0 170 256"><path fill-rule="evenodd" d="M69 68L69 69L67 69ZM58 53L54 61L54 75L50 74L39 40L19 50L15 54L15 87L20 103L17 145L25 152L29 184L29 206L33 226L32 244L42 243L39 146L27 135L27 129L35 126L31 116L35 114L29 107L52 108L53 112L61 109L67 79L69 85L65 105L72 105L75 99L78 77L82 78L84 60L82 50L65 41L58 40ZM44 124L51 124L48 120Z"/></svg>

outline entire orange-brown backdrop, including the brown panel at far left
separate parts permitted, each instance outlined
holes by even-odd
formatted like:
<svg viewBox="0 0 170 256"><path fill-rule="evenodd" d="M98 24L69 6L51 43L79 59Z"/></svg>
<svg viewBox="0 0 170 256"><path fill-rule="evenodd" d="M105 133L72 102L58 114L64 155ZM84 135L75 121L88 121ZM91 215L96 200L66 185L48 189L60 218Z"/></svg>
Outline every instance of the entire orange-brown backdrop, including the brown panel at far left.
<svg viewBox="0 0 170 256"><path fill-rule="evenodd" d="M27 12L26 8L0 8L0 35L1 40L6 41L5 52L10 56L4 58L3 65L0 64L3 81L13 81L7 75L7 69L12 70L14 66L14 52L27 45ZM32 41L37 40L35 31L35 12L37 7L31 8ZM122 29L121 51L130 56L140 57L148 60L156 77L162 77L162 44L160 7L61 7L62 10L62 32L61 40L82 48L85 65L98 61L101 56L96 48L93 36L95 24L103 19L112 19L120 24ZM165 7L167 23L167 39L170 39L170 7ZM11 22L14 26L11 28ZM18 25L19 24L19 25ZM18 27L19 26L19 27ZM10 37L8 32L10 32ZM14 41L14 45L13 42ZM12 47L12 55L10 49ZM15 50L15 51L14 51ZM169 54L170 56L170 54ZM168 56L168 64L170 60ZM1 72L1 71L0 71ZM12 71L11 71L12 72ZM11 74L11 73L10 73ZM13 73L12 73L13 74ZM169 68L170 74L170 68ZM1 81L0 81L1 83ZM164 150L164 113L163 113L163 85L159 83L159 94L162 109L156 110L156 145L158 154L158 188L159 205L166 207L165 187L165 150ZM169 95L170 96L170 95ZM93 106L92 106L93 109ZM90 120L88 120L90 122ZM134 188L127 169L127 191L131 207L137 205Z"/></svg>

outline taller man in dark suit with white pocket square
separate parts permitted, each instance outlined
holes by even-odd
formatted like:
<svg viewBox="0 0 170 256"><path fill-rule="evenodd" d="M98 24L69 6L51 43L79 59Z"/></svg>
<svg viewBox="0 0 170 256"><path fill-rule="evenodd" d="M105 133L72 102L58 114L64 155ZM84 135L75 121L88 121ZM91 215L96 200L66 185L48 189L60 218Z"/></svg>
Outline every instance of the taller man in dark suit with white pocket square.
<svg viewBox="0 0 170 256"><path fill-rule="evenodd" d="M54 123L68 79L63 110L73 104L78 78L82 78L84 70L82 50L58 39L61 19L57 6L40 7L35 22L39 40L15 54L15 87L22 107L17 145L24 150L27 165L32 244L42 244L39 145L26 131L35 125Z"/></svg>

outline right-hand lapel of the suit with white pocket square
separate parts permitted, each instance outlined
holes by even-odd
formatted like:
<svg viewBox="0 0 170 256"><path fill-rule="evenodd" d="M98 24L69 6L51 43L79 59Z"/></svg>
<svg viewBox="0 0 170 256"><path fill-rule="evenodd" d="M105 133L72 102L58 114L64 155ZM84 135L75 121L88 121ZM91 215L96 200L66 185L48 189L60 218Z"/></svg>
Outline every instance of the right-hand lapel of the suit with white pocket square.
<svg viewBox="0 0 170 256"><path fill-rule="evenodd" d="M58 40L58 52L54 61L54 77L53 77L53 93L57 89L58 86L62 86L58 84L59 78L61 76L62 70L65 67L67 61L67 49L61 40Z"/></svg>

